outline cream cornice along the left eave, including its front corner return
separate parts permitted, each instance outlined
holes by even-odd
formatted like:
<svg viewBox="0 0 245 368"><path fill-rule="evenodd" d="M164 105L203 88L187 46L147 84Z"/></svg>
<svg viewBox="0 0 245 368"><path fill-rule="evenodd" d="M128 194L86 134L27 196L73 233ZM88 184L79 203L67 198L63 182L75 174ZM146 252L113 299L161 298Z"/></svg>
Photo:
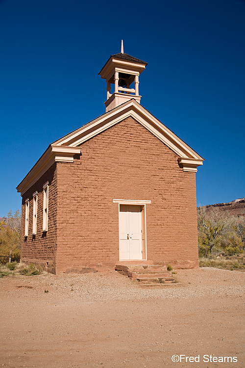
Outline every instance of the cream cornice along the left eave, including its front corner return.
<svg viewBox="0 0 245 368"><path fill-rule="evenodd" d="M25 176L23 181L17 186L18 192L23 195L38 179L49 169L54 162L73 162L73 156L80 154L80 148L76 147L57 147L51 144L47 151L43 154L29 173Z"/></svg>

